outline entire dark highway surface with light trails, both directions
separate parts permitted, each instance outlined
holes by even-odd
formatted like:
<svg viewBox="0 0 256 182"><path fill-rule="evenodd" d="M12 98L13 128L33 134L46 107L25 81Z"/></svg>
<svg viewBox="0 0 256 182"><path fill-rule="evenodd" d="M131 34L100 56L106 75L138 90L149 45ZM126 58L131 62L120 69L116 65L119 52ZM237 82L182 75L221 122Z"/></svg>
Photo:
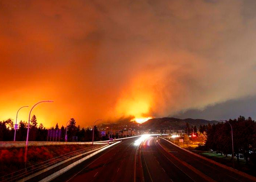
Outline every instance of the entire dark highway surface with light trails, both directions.
<svg viewBox="0 0 256 182"><path fill-rule="evenodd" d="M251 182L252 180L196 157L171 143L150 137L121 143L67 171L54 182ZM141 165L140 165L141 164Z"/></svg>

